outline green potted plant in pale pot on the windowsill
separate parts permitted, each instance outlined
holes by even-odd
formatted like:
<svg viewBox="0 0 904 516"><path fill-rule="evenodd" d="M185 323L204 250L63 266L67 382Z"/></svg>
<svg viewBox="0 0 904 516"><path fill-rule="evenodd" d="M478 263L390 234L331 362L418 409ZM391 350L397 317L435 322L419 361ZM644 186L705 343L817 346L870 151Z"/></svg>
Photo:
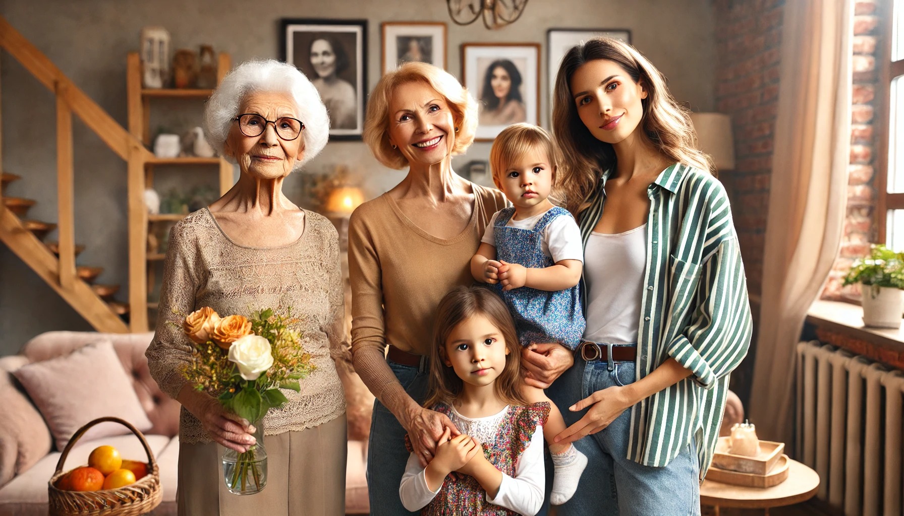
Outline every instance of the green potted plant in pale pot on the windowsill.
<svg viewBox="0 0 904 516"><path fill-rule="evenodd" d="M863 324L899 328L904 312L904 253L873 244L870 256L857 258L844 285L862 285Z"/></svg>

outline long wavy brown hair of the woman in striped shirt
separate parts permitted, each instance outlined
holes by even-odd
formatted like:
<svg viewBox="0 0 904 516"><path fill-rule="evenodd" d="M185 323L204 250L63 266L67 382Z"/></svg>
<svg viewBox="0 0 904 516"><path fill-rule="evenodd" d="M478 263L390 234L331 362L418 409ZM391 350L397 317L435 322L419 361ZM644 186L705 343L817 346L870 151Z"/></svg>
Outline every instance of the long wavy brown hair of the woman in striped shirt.
<svg viewBox="0 0 904 516"><path fill-rule="evenodd" d="M715 172L711 157L694 148L690 111L672 97L663 74L626 42L595 38L571 47L556 75L552 129L562 155L559 184L566 208L575 215L586 208L600 175L616 166L615 149L599 141L584 126L571 96L571 77L584 63L598 59L615 62L631 80L643 83L647 96L641 100L641 128L660 153L673 162Z"/></svg>

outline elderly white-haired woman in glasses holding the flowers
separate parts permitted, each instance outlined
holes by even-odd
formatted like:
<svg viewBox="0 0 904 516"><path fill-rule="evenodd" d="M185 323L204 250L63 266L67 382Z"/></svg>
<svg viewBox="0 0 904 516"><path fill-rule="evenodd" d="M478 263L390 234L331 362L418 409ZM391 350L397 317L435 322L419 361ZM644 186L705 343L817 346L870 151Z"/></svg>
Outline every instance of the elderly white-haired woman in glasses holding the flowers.
<svg viewBox="0 0 904 516"><path fill-rule="evenodd" d="M326 145L326 109L295 67L249 61L214 91L205 123L211 144L238 162L239 182L170 232L160 318L146 353L160 388L183 406L179 514L344 514L345 401L334 367L344 350L338 239L329 220L282 192L286 176ZM229 493L221 473L221 446L246 451L254 429L180 374L192 342L172 323L202 306L221 315L291 307L316 366L301 391L284 389L287 404L264 418L268 482L257 494Z"/></svg>

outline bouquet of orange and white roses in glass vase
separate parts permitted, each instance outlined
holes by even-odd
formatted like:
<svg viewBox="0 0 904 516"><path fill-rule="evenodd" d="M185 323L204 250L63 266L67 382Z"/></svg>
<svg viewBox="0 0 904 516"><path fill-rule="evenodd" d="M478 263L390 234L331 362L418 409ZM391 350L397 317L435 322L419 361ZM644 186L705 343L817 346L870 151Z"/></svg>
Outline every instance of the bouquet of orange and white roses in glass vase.
<svg viewBox="0 0 904 516"><path fill-rule="evenodd" d="M183 376L194 389L218 396L224 408L244 417L257 443L245 453L223 453L223 481L231 493L259 493L267 485L267 452L263 446L264 415L288 401L279 389L301 389L315 367L301 346L300 321L287 314L260 310L221 317L204 306L185 317L182 329L195 343L192 362Z"/></svg>

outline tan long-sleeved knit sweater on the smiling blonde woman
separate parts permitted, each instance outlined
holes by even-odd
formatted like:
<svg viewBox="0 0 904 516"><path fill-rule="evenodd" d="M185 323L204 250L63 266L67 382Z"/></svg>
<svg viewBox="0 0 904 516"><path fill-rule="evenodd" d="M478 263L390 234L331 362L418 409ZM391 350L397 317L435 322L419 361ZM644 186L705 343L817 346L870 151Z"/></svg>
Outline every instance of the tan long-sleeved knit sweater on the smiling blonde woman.
<svg viewBox="0 0 904 516"><path fill-rule="evenodd" d="M457 237L421 230L388 195L363 203L349 221L354 368L393 412L406 394L386 365L384 348L430 354L439 301L455 286L471 285L471 257L486 224L506 205L502 192L472 183L474 211Z"/></svg>

